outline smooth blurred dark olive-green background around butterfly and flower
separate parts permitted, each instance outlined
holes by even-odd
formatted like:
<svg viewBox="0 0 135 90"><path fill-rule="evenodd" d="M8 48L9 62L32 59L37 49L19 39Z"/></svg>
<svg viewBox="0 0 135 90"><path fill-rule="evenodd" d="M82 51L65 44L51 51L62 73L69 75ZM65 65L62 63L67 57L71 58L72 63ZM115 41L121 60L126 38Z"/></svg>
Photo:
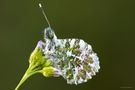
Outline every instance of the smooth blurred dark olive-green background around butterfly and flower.
<svg viewBox="0 0 135 90"><path fill-rule="evenodd" d="M39 0L0 1L0 90L14 90L47 23ZM81 85L29 78L20 90L135 90L134 0L42 0L59 38L82 38L100 57L100 72Z"/></svg>

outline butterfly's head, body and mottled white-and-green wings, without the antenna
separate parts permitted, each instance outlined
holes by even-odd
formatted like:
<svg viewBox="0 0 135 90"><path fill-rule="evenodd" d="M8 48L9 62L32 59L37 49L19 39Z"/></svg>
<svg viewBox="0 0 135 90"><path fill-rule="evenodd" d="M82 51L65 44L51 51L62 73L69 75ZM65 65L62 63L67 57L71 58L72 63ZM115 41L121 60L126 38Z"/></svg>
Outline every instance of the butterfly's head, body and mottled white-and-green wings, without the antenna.
<svg viewBox="0 0 135 90"><path fill-rule="evenodd" d="M58 39L51 28L46 28L44 35L44 55L68 84L87 82L100 69L96 53L82 39Z"/></svg>

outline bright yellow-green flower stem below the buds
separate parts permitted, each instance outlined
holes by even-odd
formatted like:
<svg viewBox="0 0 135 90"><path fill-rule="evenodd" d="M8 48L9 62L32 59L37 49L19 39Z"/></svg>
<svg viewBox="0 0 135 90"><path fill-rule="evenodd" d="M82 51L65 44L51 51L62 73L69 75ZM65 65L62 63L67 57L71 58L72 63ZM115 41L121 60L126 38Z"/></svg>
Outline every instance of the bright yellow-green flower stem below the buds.
<svg viewBox="0 0 135 90"><path fill-rule="evenodd" d="M29 67L27 69L27 71L25 72L24 76L22 77L21 81L19 82L19 84L17 85L17 87L15 88L15 90L19 90L20 86L32 75L39 73L39 71L33 71L32 70L33 67Z"/></svg>

